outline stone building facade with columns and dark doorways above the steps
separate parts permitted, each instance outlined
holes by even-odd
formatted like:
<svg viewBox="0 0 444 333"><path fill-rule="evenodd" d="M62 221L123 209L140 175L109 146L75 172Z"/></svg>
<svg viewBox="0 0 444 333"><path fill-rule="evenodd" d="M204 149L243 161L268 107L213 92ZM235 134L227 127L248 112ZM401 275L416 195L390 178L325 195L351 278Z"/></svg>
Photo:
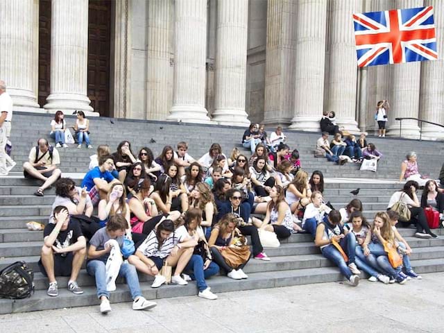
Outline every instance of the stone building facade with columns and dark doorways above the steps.
<svg viewBox="0 0 444 333"><path fill-rule="evenodd" d="M352 13L420 6L434 6L439 60L358 69ZM398 135L395 117L444 123L443 29L441 0L2 0L0 78L15 110L294 130L334 110L371 132L388 99Z"/></svg>

